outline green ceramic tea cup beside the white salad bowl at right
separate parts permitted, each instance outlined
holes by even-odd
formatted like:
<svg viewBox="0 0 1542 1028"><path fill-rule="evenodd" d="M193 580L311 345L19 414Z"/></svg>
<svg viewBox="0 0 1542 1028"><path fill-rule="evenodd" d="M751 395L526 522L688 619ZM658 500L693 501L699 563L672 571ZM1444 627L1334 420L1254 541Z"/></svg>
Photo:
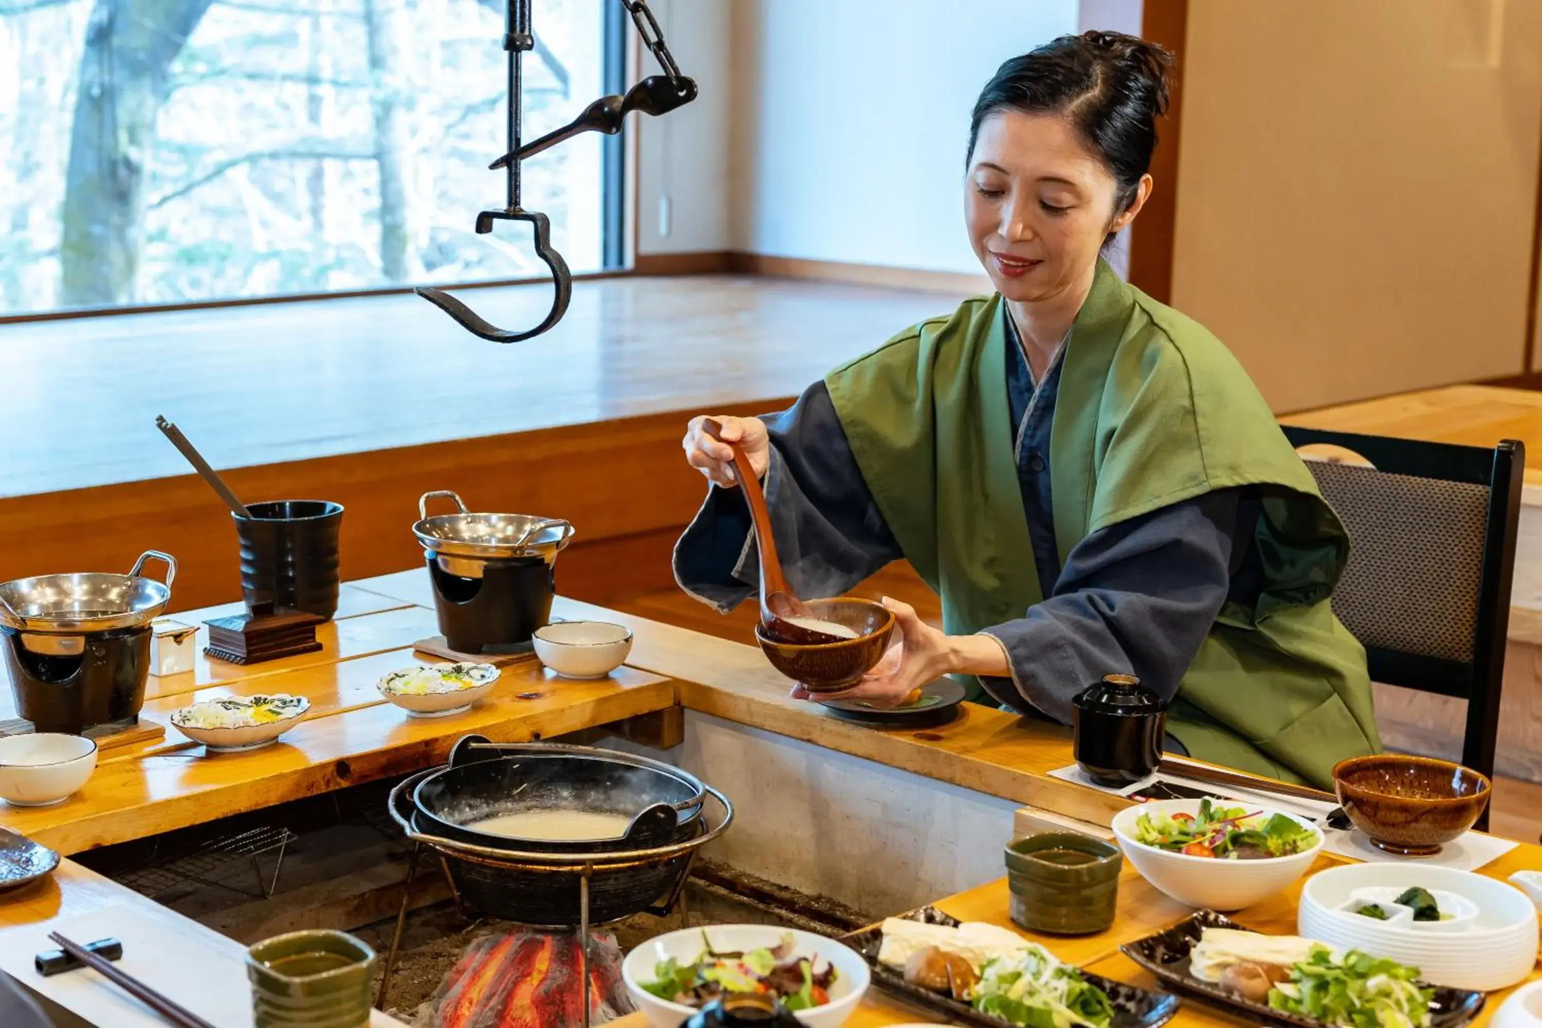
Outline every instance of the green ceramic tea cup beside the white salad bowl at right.
<svg viewBox="0 0 1542 1028"><path fill-rule="evenodd" d="M1029 931L1090 936L1113 925L1124 858L1078 832L1039 832L1007 846L1012 920Z"/></svg>

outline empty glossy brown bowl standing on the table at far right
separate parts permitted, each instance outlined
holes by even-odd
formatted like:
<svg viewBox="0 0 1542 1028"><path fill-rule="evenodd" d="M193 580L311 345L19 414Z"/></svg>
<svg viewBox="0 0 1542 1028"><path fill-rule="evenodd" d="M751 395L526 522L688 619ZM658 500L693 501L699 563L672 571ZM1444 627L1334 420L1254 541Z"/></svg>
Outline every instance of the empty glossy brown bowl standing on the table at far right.
<svg viewBox="0 0 1542 1028"><path fill-rule="evenodd" d="M1334 768L1345 814L1389 854L1428 857L1473 828L1493 784L1483 775L1433 757L1375 754Z"/></svg>

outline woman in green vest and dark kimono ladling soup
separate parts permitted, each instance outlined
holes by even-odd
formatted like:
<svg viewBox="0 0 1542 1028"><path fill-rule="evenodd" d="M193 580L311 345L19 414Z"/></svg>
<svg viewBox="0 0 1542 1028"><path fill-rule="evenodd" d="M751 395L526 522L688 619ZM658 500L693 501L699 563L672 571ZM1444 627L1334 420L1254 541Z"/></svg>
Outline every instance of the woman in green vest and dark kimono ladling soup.
<svg viewBox="0 0 1542 1028"><path fill-rule="evenodd" d="M1365 652L1329 609L1345 532L1231 353L1099 259L1150 196L1169 66L1116 32L1002 65L964 203L996 294L782 415L722 418L723 438L763 478L799 595L899 558L942 595L944 632L885 600L902 641L847 695L973 675L1069 723L1087 684L1135 674L1172 701L1172 749L1329 786L1379 747ZM712 489L675 576L728 610L756 583L748 510L700 418L685 450Z"/></svg>

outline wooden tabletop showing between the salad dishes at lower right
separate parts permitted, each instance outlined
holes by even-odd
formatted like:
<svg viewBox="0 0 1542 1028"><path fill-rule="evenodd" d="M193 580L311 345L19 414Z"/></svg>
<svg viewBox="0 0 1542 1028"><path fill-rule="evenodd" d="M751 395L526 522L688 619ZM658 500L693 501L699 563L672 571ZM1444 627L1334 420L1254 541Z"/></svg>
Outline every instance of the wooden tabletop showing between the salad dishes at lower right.
<svg viewBox="0 0 1542 1028"><path fill-rule="evenodd" d="M1345 863L1338 857L1321 857L1312 865L1309 874ZM1491 879L1505 879L1520 869L1542 868L1542 848L1522 845L1510 851L1494 863L1482 868L1479 874ZM1235 914L1238 923L1269 934L1295 934L1295 908L1301 895L1301 883L1294 885L1286 892L1280 892L1257 906ZM1155 931L1173 925L1192 912L1192 908L1167 899L1158 892L1146 879L1126 863L1119 879L1119 905L1115 914L1113 928L1098 936L1081 939L1059 939L1027 932L1012 923L1007 917L1007 880L999 879L968 892L959 892L938 900L936 906L945 914L965 922L990 922L1010 928L1018 934L1047 946L1062 960L1075 963L1087 971L1101 974L1116 982L1127 982L1143 988L1160 988L1156 980L1143 971L1129 957L1119 952L1119 946ZM1528 980L1542 979L1542 963L1533 968ZM1519 986L1516 986L1519 988ZM1474 1028L1483 1028L1494 1016L1499 1003L1514 989L1493 993L1483 1013L1473 1022ZM847 1028L890 1028L891 1025L931 1023L934 1017L914 1010L884 993L879 988L868 989L867 997L857 1008ZM1223 1014L1215 1008L1197 1000L1184 999L1177 1017L1169 1022L1172 1028L1235 1028L1249 1023L1247 1020ZM648 1028L643 1014L632 1014L611 1022L611 1028Z"/></svg>

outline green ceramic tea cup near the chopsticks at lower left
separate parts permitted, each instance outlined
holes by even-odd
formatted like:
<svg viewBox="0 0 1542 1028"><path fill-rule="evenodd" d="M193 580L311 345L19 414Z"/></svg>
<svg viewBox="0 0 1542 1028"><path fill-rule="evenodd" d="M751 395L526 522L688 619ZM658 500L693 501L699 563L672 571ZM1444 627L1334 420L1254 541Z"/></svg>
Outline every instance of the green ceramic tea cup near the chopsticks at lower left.
<svg viewBox="0 0 1542 1028"><path fill-rule="evenodd" d="M256 1028L364 1028L375 951L341 931L291 931L247 951Z"/></svg>

